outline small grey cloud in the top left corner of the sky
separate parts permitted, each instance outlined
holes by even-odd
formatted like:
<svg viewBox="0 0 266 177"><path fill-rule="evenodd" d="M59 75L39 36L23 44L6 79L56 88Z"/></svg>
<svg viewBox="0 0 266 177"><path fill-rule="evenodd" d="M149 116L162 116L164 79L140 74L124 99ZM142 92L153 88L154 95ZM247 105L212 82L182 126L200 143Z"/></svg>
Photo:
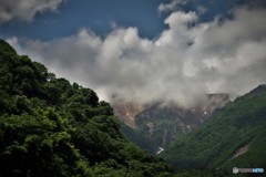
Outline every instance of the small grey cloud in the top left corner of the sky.
<svg viewBox="0 0 266 177"><path fill-rule="evenodd" d="M57 11L63 0L0 0L0 24L13 19L30 22L44 11Z"/></svg>

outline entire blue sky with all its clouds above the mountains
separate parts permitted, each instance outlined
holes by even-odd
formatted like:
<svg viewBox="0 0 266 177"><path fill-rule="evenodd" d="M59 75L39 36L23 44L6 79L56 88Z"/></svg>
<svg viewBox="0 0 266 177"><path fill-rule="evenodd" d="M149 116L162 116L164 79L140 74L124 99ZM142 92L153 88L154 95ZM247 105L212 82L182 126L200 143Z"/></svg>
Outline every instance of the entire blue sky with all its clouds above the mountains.
<svg viewBox="0 0 266 177"><path fill-rule="evenodd" d="M266 82L265 0L0 0L0 38L109 102L192 106Z"/></svg>

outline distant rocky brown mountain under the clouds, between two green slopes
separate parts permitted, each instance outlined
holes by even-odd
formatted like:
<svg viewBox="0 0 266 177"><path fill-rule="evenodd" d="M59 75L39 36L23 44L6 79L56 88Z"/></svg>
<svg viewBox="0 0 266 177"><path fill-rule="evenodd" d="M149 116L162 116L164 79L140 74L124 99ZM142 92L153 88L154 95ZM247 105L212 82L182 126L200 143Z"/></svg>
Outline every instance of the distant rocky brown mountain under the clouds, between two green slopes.
<svg viewBox="0 0 266 177"><path fill-rule="evenodd" d="M114 112L126 125L130 125L130 127L122 126L125 136L141 148L155 154L160 148L162 152L173 140L206 122L213 112L226 102L228 94L223 93L208 94L204 103L191 108L176 104L142 105L120 102L115 104Z"/></svg>

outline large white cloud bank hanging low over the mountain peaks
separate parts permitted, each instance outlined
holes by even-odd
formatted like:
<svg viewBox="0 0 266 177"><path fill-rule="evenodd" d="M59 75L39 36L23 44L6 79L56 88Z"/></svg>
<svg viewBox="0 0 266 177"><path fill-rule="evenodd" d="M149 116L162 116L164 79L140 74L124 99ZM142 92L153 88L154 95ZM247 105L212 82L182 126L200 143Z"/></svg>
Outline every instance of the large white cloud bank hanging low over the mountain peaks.
<svg viewBox="0 0 266 177"><path fill-rule="evenodd" d="M101 98L175 102L190 106L206 93L243 94L266 82L266 11L235 9L233 18L200 23L195 12L172 12L154 40L136 28L115 28L100 38L89 29L53 41L9 39Z"/></svg>

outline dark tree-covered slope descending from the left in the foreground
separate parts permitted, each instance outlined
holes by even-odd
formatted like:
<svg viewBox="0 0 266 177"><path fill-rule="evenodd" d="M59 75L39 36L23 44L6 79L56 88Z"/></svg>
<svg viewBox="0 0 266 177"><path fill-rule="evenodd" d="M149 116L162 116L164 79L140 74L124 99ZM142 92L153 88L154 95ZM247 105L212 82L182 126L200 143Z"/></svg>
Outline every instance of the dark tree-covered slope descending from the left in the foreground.
<svg viewBox="0 0 266 177"><path fill-rule="evenodd" d="M96 93L0 40L1 177L168 177L172 169L126 140Z"/></svg>

